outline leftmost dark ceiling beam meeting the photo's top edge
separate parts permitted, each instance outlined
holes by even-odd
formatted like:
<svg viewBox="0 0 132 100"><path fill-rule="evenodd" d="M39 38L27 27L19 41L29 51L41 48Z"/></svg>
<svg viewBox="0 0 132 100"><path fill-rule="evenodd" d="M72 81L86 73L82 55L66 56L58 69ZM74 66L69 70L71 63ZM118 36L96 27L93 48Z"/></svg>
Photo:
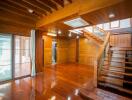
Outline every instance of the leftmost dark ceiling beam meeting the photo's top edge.
<svg viewBox="0 0 132 100"><path fill-rule="evenodd" d="M38 9L37 7L34 7L31 4L26 3L26 2L24 2L22 0L8 0L8 1L13 2L13 3L15 3L15 4L17 4L17 5L21 6L21 7L24 7L27 10L28 9L32 9L34 12L38 13L39 15L47 15L46 11Z"/></svg>

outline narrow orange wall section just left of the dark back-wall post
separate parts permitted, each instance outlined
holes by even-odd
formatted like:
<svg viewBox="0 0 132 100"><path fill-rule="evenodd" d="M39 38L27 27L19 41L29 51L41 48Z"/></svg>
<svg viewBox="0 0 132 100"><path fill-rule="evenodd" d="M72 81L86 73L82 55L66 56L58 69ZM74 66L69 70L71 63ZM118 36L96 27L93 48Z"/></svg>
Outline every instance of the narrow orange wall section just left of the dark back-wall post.
<svg viewBox="0 0 132 100"><path fill-rule="evenodd" d="M68 40L68 62L75 63L76 62L76 39L69 39Z"/></svg>

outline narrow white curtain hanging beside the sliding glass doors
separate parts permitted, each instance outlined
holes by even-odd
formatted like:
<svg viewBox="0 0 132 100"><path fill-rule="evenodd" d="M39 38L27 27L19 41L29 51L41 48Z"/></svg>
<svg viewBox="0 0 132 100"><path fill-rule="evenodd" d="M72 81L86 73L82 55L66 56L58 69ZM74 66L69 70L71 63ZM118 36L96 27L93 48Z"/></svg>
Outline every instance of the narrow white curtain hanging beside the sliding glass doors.
<svg viewBox="0 0 132 100"><path fill-rule="evenodd" d="M31 76L36 75L35 70L35 30L31 30L31 41L30 41L30 54L31 54Z"/></svg>

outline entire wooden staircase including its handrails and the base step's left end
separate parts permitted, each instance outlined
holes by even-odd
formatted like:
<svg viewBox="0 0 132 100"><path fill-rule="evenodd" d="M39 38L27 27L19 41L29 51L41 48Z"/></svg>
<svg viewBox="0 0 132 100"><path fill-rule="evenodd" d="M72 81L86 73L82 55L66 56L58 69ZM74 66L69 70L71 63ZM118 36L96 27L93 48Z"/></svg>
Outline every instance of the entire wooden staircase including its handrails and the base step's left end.
<svg viewBox="0 0 132 100"><path fill-rule="evenodd" d="M100 95L93 91L101 88L132 98L132 47L110 46L110 33L97 29L105 33L103 40L90 32L83 31L85 37L91 38L99 45L99 50L94 66L94 80L90 85L80 88L80 95L86 100L94 100L94 97L98 99ZM89 93L94 97L90 97Z"/></svg>

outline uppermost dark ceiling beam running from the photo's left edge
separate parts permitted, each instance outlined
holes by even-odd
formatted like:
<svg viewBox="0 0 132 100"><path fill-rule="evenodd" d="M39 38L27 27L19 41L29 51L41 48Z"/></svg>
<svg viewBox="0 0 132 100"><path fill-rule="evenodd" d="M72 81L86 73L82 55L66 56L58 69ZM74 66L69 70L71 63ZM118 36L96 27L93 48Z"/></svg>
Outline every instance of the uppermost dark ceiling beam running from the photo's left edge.
<svg viewBox="0 0 132 100"><path fill-rule="evenodd" d="M11 12L11 13L14 13L14 14L17 14L19 16L23 16L25 18L28 18L28 19L32 19L33 21L36 21L36 18L28 15L27 13L19 10L19 9L16 9L15 7L11 6L11 5L7 5L3 2L0 2L0 9L3 9L5 11L8 11L8 12Z"/></svg>

